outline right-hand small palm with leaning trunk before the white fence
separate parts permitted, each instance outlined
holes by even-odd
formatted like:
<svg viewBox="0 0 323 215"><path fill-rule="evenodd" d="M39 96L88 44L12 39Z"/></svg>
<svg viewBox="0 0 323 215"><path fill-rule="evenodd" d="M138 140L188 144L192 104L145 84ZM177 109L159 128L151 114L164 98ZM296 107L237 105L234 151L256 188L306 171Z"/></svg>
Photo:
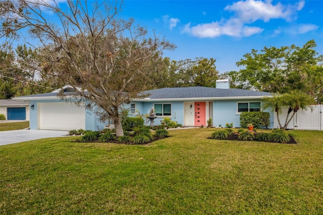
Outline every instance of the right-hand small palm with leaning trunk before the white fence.
<svg viewBox="0 0 323 215"><path fill-rule="evenodd" d="M282 98L284 99L284 103L288 105L288 113L285 121L285 125L283 129L286 129L290 121L295 116L296 112L299 109L307 110L313 108L310 106L315 103L315 100L312 96L303 93L300 90L294 90L289 93L285 93ZM288 119L289 114L293 112L292 116Z"/></svg>

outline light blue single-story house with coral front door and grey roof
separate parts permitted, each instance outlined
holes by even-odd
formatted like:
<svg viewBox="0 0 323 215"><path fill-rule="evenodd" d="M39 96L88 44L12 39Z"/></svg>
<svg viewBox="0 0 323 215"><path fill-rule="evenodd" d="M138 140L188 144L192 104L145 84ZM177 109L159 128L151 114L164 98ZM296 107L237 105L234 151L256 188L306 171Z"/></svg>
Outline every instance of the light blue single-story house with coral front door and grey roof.
<svg viewBox="0 0 323 215"><path fill-rule="evenodd" d="M208 119L213 120L214 126L225 126L233 123L240 127L240 113L260 111L261 98L271 96L271 93L243 89L229 89L229 82L220 80L218 88L212 87L178 87L161 88L144 91L145 98L133 99L130 104L125 104L132 115L147 114L154 108L157 118L155 124L160 124L164 117L184 126L206 126ZM65 86L64 91L68 96L71 88ZM104 123L98 120L94 111L85 108L86 102L76 106L58 97L58 90L21 96L15 99L29 101L33 105L30 112L30 129L48 130L101 130ZM273 127L274 115L271 114L270 127Z"/></svg>

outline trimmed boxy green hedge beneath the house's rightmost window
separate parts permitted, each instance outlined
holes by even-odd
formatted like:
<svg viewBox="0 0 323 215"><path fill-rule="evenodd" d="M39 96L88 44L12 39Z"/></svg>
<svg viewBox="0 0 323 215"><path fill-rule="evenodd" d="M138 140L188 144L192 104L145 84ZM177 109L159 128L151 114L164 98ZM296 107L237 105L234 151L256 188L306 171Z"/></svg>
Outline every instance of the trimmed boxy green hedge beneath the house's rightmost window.
<svg viewBox="0 0 323 215"><path fill-rule="evenodd" d="M270 126L270 114L268 112L242 112L240 114L240 127L247 128L251 123L254 128L268 128Z"/></svg>

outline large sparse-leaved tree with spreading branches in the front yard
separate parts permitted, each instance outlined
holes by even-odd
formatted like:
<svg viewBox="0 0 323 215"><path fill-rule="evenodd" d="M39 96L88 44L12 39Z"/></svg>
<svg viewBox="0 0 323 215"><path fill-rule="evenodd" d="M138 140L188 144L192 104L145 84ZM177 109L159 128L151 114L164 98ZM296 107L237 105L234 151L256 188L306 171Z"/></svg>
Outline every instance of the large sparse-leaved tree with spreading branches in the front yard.
<svg viewBox="0 0 323 215"><path fill-rule="evenodd" d="M1 0L1 35L38 42L42 75L59 77L98 105L122 136L121 106L151 85L162 51L175 45L121 19L119 2L62 2Z"/></svg>

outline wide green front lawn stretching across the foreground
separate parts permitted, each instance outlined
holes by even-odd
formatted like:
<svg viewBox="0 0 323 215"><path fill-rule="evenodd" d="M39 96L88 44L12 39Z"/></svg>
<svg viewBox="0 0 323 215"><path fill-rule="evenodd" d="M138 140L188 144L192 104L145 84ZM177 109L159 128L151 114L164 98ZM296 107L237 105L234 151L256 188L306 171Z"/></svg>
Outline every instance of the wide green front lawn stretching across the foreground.
<svg viewBox="0 0 323 215"><path fill-rule="evenodd" d="M322 131L278 144L207 139L215 130L1 146L0 214L323 214Z"/></svg>

